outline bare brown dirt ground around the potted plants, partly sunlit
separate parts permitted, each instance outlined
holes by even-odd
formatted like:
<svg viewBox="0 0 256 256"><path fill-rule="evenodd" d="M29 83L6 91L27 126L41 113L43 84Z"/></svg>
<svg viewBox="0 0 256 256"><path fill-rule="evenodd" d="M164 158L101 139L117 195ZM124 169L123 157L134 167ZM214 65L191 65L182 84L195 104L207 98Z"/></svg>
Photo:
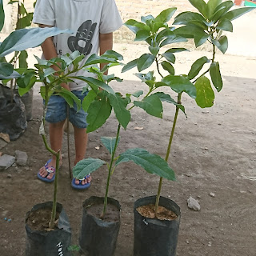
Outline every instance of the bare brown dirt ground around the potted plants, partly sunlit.
<svg viewBox="0 0 256 256"><path fill-rule="evenodd" d="M116 45L125 62L134 58L142 46ZM40 55L40 50L30 50ZM188 72L190 64L204 52L177 55L180 74ZM140 56L140 55L138 55ZM183 98L187 118L179 114L170 166L178 182L163 182L162 196L172 198L182 212L178 237L178 256L254 256L256 255L256 58L217 55L224 78L223 90L216 95L214 106L200 109L190 98ZM31 58L31 62L34 62ZM134 70L120 74L124 82L113 82L114 90L132 93L146 89L133 75ZM110 72L111 73L111 72ZM164 104L163 118L153 118L140 109L132 110L132 121L122 130L118 153L142 147L164 157L174 106ZM50 158L42 138L38 135L42 115L42 100L38 87L34 90L33 120L17 141L1 151L14 155L25 151L27 166L10 167L0 172L0 255L20 256L25 253L25 214L39 202L50 201L53 184L38 180L39 168ZM134 128L143 127L143 130ZM87 157L110 160L101 146L101 136L114 136L117 121L114 115L102 128L89 134ZM97 150L96 148L99 149ZM74 139L70 138L71 157L74 158ZM63 139L64 161L59 175L58 202L70 218L72 244L78 245L82 202L91 195L103 196L106 168L92 174L89 190L77 191L70 186L67 160L67 139ZM11 177L10 177L11 176ZM133 205L137 198L157 193L158 177L146 173L134 163L122 163L114 171L110 183L110 197L122 205L122 224L118 236L116 256L133 255ZM214 193L214 197L210 196ZM200 202L201 210L190 210L190 195ZM10 222L5 220L11 219Z"/></svg>

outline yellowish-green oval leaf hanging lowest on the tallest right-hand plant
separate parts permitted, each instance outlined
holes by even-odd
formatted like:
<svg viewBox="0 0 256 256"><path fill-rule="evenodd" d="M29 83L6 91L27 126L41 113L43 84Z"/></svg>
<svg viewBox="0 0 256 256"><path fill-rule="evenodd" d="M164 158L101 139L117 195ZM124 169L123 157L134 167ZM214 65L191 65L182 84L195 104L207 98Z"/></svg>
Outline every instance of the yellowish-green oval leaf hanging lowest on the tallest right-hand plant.
<svg viewBox="0 0 256 256"><path fill-rule="evenodd" d="M205 108L214 105L214 91L210 86L210 80L205 76L198 78L197 82L194 84L197 90L197 97L195 101L198 106Z"/></svg>

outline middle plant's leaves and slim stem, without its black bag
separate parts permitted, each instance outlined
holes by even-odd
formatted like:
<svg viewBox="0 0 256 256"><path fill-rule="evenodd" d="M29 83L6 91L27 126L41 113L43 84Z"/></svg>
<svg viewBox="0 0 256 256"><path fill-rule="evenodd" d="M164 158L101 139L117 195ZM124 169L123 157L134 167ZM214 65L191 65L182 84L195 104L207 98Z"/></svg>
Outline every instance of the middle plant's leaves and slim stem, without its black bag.
<svg viewBox="0 0 256 256"><path fill-rule="evenodd" d="M122 60L120 54L115 53L116 56ZM115 65L115 63L114 63ZM98 80L101 82L106 82L108 84L112 80L122 82L122 79L117 78L114 74L104 75L104 72L113 66L113 64L106 65L103 70L98 70L98 68L90 68L90 72L93 72L98 75ZM102 126L106 119L110 117L112 109L114 114L118 119L118 129L116 136L114 138L102 137L101 142L106 149L110 152L110 162L107 163L98 158L86 158L78 162L73 169L74 178L82 179L86 175L92 173L95 170L98 170L99 167L106 164L108 169L108 176L106 180L106 192L104 197L104 206L100 218L103 220L106 214L108 192L110 188L110 177L114 173L116 166L121 162L133 161L138 166L142 166L150 174L158 174L164 178L175 180L174 172L170 169L167 162L162 159L157 154L150 154L147 150L141 148L129 149L123 152L122 154L116 155L118 148L118 142L120 140L120 130L121 127L126 130L127 125L130 122L130 110L134 106L144 106L150 111L150 114L161 117L162 109L150 110L150 102L154 95L150 96L150 92L146 94L142 101L132 102L132 96L138 98L142 95L142 91L137 91L134 94L126 94L123 96L120 93L111 94L106 90L90 90L87 94L86 99L82 102L83 109L88 113L86 121L88 122L87 132L94 131ZM160 100L156 97L161 105Z"/></svg>

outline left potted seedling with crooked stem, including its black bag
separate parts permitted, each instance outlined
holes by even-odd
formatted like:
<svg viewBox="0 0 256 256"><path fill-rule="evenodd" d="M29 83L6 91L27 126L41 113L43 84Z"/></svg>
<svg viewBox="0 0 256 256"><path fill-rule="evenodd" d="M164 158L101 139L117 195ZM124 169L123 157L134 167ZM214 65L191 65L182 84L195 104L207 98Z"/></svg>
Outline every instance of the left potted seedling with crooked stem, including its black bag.
<svg viewBox="0 0 256 256"><path fill-rule="evenodd" d="M109 86L95 78L77 77L74 74L77 73L78 70L86 68L86 66L100 62L111 62L112 65L114 65L116 60L109 58L106 54L103 54L101 57L94 54L82 64L81 61L84 58L85 56L83 54L79 54L78 51L75 51L72 54L65 54L60 58L52 58L50 60L37 58L38 64L35 64L35 69L18 70L21 73L21 77L17 79L19 93L21 95L30 90L35 82L42 82L40 94L44 99L44 107L39 133L42 135L46 149L50 154L56 157L56 168L53 177L53 202L38 204L26 214L26 255L37 254L50 256L60 252L65 255L70 254L68 250L71 239L70 223L65 211L62 209L62 205L57 203L60 151L56 152L48 145L44 124L46 108L50 95L52 94L60 95L66 100L70 107L74 107L76 110L79 110L81 107L80 100L72 94L70 90L66 90L60 86L62 82L74 82L73 79L76 78L87 82L94 90L99 87L104 91L112 92ZM58 69L56 69L58 71L54 69L54 66L58 67ZM40 251L40 254L38 251Z"/></svg>

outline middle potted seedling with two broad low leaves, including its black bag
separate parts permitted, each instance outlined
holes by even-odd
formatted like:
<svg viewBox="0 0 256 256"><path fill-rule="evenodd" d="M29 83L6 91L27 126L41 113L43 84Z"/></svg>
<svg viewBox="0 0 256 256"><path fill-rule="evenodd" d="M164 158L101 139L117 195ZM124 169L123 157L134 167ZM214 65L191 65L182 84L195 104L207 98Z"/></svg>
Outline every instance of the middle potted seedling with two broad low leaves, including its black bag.
<svg viewBox="0 0 256 256"><path fill-rule="evenodd" d="M110 53L111 54L111 53ZM115 53L117 58L122 60L120 54ZM90 72L98 75L98 80L108 84L112 80L121 82L114 74L104 75L103 73L110 67L106 65L103 70L90 68ZM74 166L74 178L82 179L86 175L98 170L99 167L106 164L108 175L106 179L105 197L90 197L82 204L82 225L79 236L79 246L86 255L105 255L114 254L118 230L120 227L120 209L121 206L114 198L109 198L110 178L117 170L117 166L122 162L133 161L138 166L142 166L151 174L162 175L162 177L174 180L174 172L170 169L167 162L157 154L150 154L147 150L141 148L129 149L122 154L117 154L118 142L120 140L120 130L126 130L130 122L130 110L134 106L148 106L154 101L154 96L146 94L141 101L138 97L142 91L134 94L112 93L106 90L90 90L85 102L82 103L84 110L88 113L86 122L88 122L87 132L94 131L102 126L106 119L110 117L111 110L114 110L115 117L118 120L117 133L114 138L102 137L102 145L110 153L110 162L102 161L98 158L86 158ZM136 99L132 101L132 99ZM161 105L158 97L156 101ZM149 109L150 111L150 109ZM152 110L151 114L161 117L162 110Z"/></svg>

